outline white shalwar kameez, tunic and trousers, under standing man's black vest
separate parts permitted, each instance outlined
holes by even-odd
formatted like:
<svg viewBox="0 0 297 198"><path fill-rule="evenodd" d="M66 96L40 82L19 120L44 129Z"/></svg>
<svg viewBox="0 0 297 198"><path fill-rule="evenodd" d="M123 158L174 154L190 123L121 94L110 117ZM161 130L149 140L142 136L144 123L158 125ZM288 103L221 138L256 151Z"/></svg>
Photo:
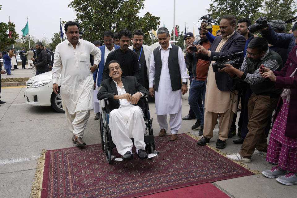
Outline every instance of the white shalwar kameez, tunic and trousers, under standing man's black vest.
<svg viewBox="0 0 297 198"><path fill-rule="evenodd" d="M160 82L158 91L155 91L155 105L156 105L156 113L157 120L161 129L167 130L167 114L170 115L170 132L172 134L177 134L180 129L181 121L182 121L182 93L181 90L172 91L171 80L168 69L168 56L169 51L172 49L171 44L166 50L164 50L161 46L159 50L161 50L161 60L162 60L162 70L160 75ZM186 63L183 58L182 49L179 47L178 52L179 59L179 72L182 78L182 82L186 82L186 79L190 78L187 75ZM152 52L151 62L149 68L149 87L153 87L155 80L155 58Z"/></svg>

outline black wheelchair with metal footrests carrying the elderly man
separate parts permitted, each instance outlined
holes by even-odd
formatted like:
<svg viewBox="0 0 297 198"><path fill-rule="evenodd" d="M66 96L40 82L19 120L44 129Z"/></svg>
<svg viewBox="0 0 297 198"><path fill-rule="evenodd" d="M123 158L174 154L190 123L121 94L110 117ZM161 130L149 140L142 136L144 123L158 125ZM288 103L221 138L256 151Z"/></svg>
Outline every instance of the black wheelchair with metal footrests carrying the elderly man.
<svg viewBox="0 0 297 198"><path fill-rule="evenodd" d="M123 158L114 157L112 154L112 149L115 147L115 144L112 141L111 138L111 131L108 127L109 123L109 101L107 98L104 98L104 100L99 101L100 107L101 107L101 113L100 113L100 136L101 136L101 144L102 144L102 150L105 154L106 161L111 164L112 161L123 161ZM153 118L150 119L149 116L149 103L148 103L148 96L145 95L143 98L141 98L138 102L138 105L142 105L140 107L143 107L143 113L144 113L144 122L145 122L145 131L144 131L144 143L145 151L148 153L147 159L152 159L153 157L156 157L159 154L159 151L155 150L155 142L154 142L154 135L153 135L153 127L152 122ZM133 138L132 142L134 145Z"/></svg>

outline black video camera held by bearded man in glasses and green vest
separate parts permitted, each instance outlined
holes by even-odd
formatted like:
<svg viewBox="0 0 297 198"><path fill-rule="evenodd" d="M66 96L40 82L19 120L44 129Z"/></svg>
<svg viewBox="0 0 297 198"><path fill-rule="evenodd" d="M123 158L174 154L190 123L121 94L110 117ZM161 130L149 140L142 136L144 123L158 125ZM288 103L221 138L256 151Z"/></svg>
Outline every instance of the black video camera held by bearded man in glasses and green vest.
<svg viewBox="0 0 297 198"><path fill-rule="evenodd" d="M230 64L236 69L239 69L241 67L241 56L243 55L243 52L238 52L235 54L230 54L227 56L220 55L219 57L213 56L213 60L216 61L213 63L213 72L217 72L225 67L225 64ZM235 59L228 60L229 57L235 56Z"/></svg>

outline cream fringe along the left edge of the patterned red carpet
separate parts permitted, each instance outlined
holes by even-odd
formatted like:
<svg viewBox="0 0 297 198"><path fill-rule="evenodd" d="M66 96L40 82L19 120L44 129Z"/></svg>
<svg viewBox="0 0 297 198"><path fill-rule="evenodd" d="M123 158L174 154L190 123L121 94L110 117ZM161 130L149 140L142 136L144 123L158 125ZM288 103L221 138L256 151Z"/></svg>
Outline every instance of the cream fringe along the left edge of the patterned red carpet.
<svg viewBox="0 0 297 198"><path fill-rule="evenodd" d="M45 149L41 150L41 156L37 159L36 171L35 171L35 181L32 182L31 194L30 198L38 198L40 197L40 192L43 190L42 186L42 176L44 170L44 161L45 161L45 153L47 151Z"/></svg>

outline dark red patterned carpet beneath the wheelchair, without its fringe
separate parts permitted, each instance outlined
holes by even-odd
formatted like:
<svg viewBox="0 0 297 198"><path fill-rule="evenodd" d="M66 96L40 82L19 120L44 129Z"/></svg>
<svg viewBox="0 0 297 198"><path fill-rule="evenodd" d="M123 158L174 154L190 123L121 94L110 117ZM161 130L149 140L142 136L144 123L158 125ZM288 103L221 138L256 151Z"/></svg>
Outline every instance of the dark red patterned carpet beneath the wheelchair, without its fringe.
<svg viewBox="0 0 297 198"><path fill-rule="evenodd" d="M45 155L41 198L138 197L175 188L252 175L186 134L174 142L155 137L152 160L105 161L101 144L49 150ZM135 150L133 150L135 153ZM115 156L119 157L116 148Z"/></svg>

